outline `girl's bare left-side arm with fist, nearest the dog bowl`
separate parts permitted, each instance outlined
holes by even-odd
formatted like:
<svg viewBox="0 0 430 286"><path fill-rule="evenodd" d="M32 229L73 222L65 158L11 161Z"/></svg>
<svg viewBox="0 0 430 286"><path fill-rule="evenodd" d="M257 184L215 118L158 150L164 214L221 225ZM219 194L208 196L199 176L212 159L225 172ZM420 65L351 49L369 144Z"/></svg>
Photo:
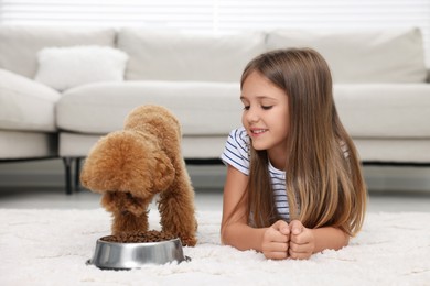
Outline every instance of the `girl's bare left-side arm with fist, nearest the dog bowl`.
<svg viewBox="0 0 430 286"><path fill-rule="evenodd" d="M270 228L251 228L247 224L246 200L248 176L228 165L223 196L221 239L238 250L256 250L268 258L286 258L289 228L278 221Z"/></svg>

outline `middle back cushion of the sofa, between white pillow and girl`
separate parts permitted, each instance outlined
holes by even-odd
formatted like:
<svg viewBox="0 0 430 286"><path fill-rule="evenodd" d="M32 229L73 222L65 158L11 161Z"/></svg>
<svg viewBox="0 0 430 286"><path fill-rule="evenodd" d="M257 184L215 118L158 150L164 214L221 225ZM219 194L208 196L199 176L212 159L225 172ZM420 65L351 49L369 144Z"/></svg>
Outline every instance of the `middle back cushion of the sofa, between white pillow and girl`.
<svg viewBox="0 0 430 286"><path fill-rule="evenodd" d="M125 28L118 47L129 56L126 79L235 81L265 51L259 32L227 35L151 32Z"/></svg>

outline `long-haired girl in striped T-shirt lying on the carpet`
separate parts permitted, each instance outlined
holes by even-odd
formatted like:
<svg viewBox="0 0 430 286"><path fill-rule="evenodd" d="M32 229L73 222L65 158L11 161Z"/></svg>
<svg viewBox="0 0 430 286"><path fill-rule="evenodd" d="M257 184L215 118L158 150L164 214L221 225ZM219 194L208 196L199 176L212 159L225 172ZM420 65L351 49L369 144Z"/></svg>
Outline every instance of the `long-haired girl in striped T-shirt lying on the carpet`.
<svg viewBox="0 0 430 286"><path fill-rule="evenodd" d="M347 245L367 191L324 58L310 48L268 52L246 66L240 86L244 127L222 154L223 243L275 260Z"/></svg>

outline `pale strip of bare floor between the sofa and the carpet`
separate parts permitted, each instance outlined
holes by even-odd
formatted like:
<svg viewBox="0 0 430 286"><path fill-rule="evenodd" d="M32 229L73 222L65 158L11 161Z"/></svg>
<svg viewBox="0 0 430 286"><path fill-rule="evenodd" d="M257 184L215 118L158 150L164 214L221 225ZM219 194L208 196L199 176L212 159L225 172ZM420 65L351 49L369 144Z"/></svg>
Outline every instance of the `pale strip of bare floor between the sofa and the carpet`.
<svg viewBox="0 0 430 286"><path fill-rule="evenodd" d="M100 207L99 199L99 194L86 189L67 196L58 187L0 187L0 208L92 209ZM197 188L195 205L197 210L222 211L222 190L219 188ZM368 211L430 212L430 193L369 191Z"/></svg>

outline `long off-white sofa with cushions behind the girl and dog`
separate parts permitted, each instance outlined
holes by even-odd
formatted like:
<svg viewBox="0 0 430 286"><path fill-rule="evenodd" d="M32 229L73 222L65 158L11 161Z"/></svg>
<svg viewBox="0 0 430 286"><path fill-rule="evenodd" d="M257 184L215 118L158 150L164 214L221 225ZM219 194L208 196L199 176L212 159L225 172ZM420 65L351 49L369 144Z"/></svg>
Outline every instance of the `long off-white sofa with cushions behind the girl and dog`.
<svg viewBox="0 0 430 286"><path fill-rule="evenodd" d="M121 129L133 107L158 103L182 123L185 160L216 162L240 124L246 63L290 46L314 47L330 63L341 119L364 163L430 163L430 84L418 29L203 35L7 25L0 25L0 160L60 156L69 194L72 163Z"/></svg>

